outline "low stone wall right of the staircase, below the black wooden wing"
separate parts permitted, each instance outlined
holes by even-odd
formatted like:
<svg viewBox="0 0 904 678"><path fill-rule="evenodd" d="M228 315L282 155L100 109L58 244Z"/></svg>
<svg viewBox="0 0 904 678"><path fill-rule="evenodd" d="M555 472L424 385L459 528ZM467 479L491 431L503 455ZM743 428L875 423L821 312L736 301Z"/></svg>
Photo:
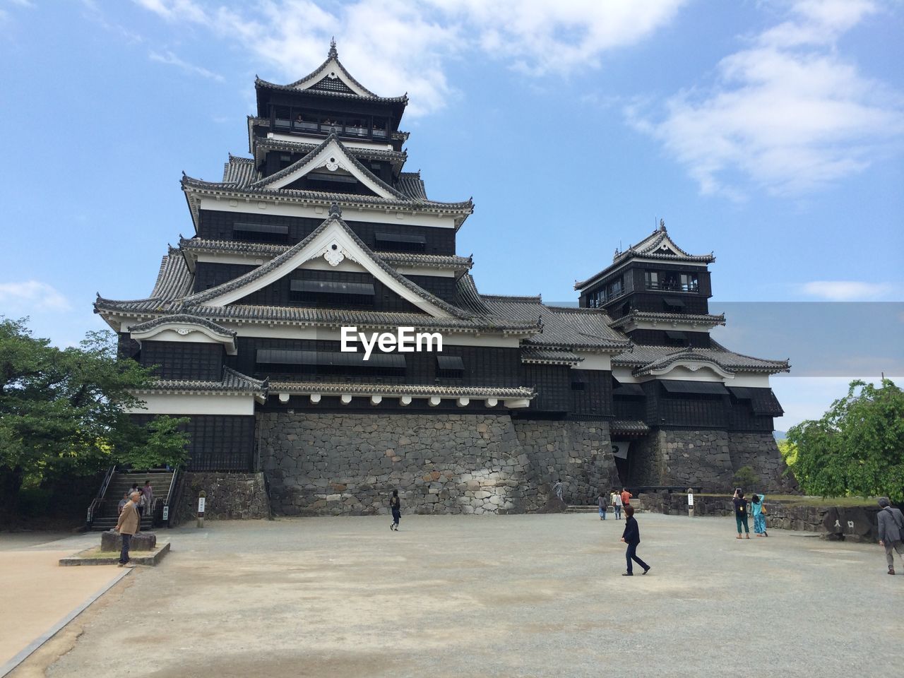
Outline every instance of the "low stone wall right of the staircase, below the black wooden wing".
<svg viewBox="0 0 904 678"><path fill-rule="evenodd" d="M194 520L198 494L207 493L204 520L254 520L270 517L270 504L262 473L186 472L179 480L175 522Z"/></svg>

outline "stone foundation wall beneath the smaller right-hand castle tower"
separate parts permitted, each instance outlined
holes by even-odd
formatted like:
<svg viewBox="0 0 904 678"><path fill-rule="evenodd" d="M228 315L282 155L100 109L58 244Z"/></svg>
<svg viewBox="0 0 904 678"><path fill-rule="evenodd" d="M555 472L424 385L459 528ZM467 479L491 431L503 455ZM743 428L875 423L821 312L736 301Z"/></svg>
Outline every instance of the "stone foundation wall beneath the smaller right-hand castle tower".
<svg viewBox="0 0 904 678"><path fill-rule="evenodd" d="M658 430L636 444L631 454L631 485L685 485L720 492L732 485L741 466L751 466L768 492L796 489L771 431Z"/></svg>

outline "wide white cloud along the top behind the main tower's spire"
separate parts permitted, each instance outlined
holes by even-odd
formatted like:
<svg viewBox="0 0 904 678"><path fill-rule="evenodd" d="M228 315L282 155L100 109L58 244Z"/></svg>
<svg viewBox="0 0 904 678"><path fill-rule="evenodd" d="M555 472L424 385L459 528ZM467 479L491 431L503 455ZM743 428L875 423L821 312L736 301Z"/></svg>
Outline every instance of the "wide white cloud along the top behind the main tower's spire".
<svg viewBox="0 0 904 678"><path fill-rule="evenodd" d="M355 78L383 96L407 90L408 112L418 116L454 96L445 67L466 50L533 75L596 68L604 52L643 40L686 0L267 0L243 10L193 0L136 2L168 22L202 25L239 42L285 81L313 70L335 36Z"/></svg>

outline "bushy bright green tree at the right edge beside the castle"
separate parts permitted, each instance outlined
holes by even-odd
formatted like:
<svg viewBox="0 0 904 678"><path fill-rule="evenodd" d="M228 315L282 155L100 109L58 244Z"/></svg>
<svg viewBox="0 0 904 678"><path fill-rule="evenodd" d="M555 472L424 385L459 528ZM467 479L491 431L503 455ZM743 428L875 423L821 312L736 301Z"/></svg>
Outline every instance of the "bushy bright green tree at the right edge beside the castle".
<svg viewBox="0 0 904 678"><path fill-rule="evenodd" d="M904 500L904 391L852 381L822 419L792 427L794 473L807 494Z"/></svg>

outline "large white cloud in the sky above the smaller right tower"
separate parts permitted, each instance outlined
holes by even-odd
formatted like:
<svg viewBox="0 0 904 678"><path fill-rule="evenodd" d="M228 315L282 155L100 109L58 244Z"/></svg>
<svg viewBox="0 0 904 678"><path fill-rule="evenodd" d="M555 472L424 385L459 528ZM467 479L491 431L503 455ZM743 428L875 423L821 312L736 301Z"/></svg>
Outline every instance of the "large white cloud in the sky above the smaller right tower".
<svg viewBox="0 0 904 678"><path fill-rule="evenodd" d="M862 172L904 141L904 96L862 76L836 42L874 14L865 0L804 0L791 18L722 59L711 89L686 89L657 118L626 108L702 193L751 183L801 194Z"/></svg>

